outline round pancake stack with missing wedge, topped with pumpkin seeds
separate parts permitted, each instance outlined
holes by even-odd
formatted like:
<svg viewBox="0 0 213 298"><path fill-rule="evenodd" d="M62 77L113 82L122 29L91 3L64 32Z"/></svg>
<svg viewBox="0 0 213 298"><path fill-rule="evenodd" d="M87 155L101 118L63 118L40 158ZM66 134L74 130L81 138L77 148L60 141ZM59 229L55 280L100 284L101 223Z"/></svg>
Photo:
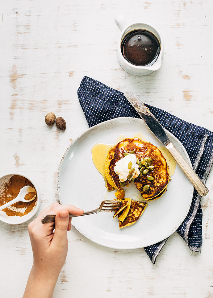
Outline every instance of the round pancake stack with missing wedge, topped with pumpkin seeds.
<svg viewBox="0 0 213 298"><path fill-rule="evenodd" d="M129 167L132 162L128 163L129 175L127 179L122 177L126 180L121 181L121 176L115 172L115 169L117 162L121 159L124 161L124 157L128 154L134 154L137 163L133 169ZM132 178L132 173L135 175L136 171L140 171L140 174ZM108 189L121 189L134 181L141 196L148 201L161 197L170 180L169 167L161 151L153 144L139 138L126 138L110 148L105 162L105 176Z"/></svg>

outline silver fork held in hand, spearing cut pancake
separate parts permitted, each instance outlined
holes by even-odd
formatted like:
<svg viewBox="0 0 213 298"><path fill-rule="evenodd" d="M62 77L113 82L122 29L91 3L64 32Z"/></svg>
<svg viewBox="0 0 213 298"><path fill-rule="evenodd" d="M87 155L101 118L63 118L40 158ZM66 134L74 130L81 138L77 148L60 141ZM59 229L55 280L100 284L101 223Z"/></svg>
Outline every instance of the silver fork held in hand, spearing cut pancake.
<svg viewBox="0 0 213 298"><path fill-rule="evenodd" d="M121 201L105 200L105 201L102 201L100 203L100 205L98 206L97 209L84 212L81 215L73 215L73 214L69 213L69 218L88 215L88 214L93 214L93 213L99 213L99 212L102 212L102 211L117 211L119 209L120 205L121 205ZM47 223L47 222L53 222L53 221L55 221L55 217L56 217L56 214L46 214L42 218L41 222L43 224Z"/></svg>

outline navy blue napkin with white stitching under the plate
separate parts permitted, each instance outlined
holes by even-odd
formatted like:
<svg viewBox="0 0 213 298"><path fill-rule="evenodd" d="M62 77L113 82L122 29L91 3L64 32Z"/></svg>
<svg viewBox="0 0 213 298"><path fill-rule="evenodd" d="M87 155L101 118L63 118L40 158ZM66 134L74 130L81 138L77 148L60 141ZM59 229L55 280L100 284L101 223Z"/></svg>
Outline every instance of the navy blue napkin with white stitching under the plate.
<svg viewBox="0 0 213 298"><path fill-rule="evenodd" d="M89 77L83 78L77 94L90 127L118 117L140 118L122 92ZM205 183L213 163L213 133L156 107L146 106L161 125L183 144L194 171ZM202 245L203 213L200 200L201 196L194 189L190 211L176 231L193 251L200 251ZM144 248L153 264L167 239Z"/></svg>

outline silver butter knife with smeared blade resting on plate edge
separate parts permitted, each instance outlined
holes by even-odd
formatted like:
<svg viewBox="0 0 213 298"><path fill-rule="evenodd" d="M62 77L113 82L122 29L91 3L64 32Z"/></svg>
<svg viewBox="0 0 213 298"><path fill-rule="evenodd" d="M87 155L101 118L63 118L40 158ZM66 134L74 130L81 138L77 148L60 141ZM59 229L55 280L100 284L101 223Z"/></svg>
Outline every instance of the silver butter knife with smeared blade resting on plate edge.
<svg viewBox="0 0 213 298"><path fill-rule="evenodd" d="M144 120L148 128L157 137L157 139L165 146L165 148L172 155L173 159L182 169L186 177L190 180L191 184L198 191L201 196L206 196L208 188L203 183L203 181L198 177L186 160L182 157L180 152L174 147L165 130L161 124L157 121L155 116L150 112L150 110L131 92L124 92L124 96L131 103L140 117Z"/></svg>

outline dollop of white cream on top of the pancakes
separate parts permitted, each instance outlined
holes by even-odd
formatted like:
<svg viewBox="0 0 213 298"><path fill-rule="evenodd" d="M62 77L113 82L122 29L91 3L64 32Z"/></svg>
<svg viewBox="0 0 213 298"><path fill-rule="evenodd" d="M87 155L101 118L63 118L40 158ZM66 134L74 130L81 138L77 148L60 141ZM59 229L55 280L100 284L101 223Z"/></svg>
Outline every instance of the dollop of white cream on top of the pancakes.
<svg viewBox="0 0 213 298"><path fill-rule="evenodd" d="M132 164L131 164L131 162L132 162ZM128 167L128 165L129 165L129 167ZM130 168L130 165L131 165L131 168ZM124 156L123 158L119 159L115 163L114 171L119 176L120 182L124 182L127 179L131 180L132 178L137 178L137 176L139 176L139 174L140 174L140 171L139 171L139 167L137 164L137 158L136 158L135 154L128 154L128 155Z"/></svg>

